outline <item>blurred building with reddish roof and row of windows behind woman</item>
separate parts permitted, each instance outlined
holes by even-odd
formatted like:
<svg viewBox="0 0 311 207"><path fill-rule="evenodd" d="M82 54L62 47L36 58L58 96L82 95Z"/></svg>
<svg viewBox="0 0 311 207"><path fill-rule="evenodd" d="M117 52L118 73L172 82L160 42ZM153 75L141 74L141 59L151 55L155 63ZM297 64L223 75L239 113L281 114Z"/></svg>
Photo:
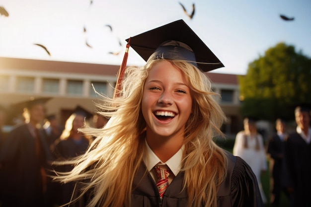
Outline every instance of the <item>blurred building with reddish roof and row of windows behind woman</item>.
<svg viewBox="0 0 311 207"><path fill-rule="evenodd" d="M113 96L119 67L0 58L0 105L10 109L30 98L50 97L46 103L47 114L60 115L60 121L64 123L77 106L90 112L96 110L95 103L100 101L100 95L94 89L98 93ZM219 102L228 117L228 124L223 131L226 134L236 133L236 123L241 120L238 113L237 75L212 72L207 75L212 80L213 90L221 94ZM16 116L16 113L20 115L21 112L10 111L10 116Z"/></svg>

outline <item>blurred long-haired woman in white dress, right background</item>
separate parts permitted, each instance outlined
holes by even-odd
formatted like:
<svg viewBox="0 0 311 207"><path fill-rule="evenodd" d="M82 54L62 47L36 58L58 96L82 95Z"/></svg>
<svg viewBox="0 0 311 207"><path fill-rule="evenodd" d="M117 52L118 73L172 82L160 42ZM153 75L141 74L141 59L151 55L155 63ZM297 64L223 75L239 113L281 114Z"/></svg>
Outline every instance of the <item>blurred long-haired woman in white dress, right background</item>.
<svg viewBox="0 0 311 207"><path fill-rule="evenodd" d="M237 133L233 155L241 157L253 170L260 189L263 203L267 203L266 196L262 189L260 175L267 170L266 152L262 136L257 132L255 122L251 119L244 119L244 131Z"/></svg>

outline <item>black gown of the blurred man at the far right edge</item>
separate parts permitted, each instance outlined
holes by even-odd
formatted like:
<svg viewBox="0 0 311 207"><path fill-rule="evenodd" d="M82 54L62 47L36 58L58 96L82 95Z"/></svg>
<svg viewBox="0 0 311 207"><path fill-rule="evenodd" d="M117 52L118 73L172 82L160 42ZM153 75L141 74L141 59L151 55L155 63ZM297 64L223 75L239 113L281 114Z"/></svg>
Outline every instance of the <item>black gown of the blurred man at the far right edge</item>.
<svg viewBox="0 0 311 207"><path fill-rule="evenodd" d="M286 160L294 187L294 206L311 207L311 143L292 133L287 139Z"/></svg>

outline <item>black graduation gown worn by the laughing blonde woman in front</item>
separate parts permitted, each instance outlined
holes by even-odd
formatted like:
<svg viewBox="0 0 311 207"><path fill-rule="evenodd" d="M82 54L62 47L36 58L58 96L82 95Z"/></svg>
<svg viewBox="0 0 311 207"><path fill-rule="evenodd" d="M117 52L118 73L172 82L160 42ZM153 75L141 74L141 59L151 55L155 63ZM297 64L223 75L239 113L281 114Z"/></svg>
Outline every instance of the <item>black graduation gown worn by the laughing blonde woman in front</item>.
<svg viewBox="0 0 311 207"><path fill-rule="evenodd" d="M228 153L227 178L217 193L218 207L263 207L258 184L250 167L240 158ZM132 207L159 207L156 183L146 166L141 164L134 177ZM187 189L182 190L184 173L179 172L164 193L162 207L186 207Z"/></svg>

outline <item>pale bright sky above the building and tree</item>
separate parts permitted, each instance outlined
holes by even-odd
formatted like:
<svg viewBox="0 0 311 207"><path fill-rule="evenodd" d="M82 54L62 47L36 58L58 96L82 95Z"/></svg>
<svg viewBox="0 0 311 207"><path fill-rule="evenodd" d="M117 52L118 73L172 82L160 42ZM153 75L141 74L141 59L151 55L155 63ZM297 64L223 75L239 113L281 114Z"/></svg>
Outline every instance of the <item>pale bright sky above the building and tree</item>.
<svg viewBox="0 0 311 207"><path fill-rule="evenodd" d="M179 3L189 13L195 4L192 19ZM125 39L183 19L225 65L213 72L246 74L279 42L311 58L311 0L0 0L0 6L9 14L0 15L0 57L121 65ZM130 49L127 65L144 64Z"/></svg>

